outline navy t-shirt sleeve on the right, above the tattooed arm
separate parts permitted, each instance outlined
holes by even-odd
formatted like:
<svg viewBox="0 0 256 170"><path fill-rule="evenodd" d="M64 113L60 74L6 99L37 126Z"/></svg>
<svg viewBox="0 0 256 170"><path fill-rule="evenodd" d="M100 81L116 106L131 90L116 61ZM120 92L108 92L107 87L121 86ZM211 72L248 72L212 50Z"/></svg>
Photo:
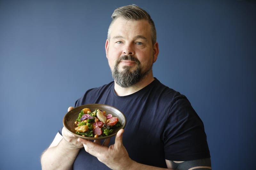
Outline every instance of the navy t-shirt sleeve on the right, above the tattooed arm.
<svg viewBox="0 0 256 170"><path fill-rule="evenodd" d="M204 124L186 97L174 100L163 133L165 158L186 161L209 158Z"/></svg>

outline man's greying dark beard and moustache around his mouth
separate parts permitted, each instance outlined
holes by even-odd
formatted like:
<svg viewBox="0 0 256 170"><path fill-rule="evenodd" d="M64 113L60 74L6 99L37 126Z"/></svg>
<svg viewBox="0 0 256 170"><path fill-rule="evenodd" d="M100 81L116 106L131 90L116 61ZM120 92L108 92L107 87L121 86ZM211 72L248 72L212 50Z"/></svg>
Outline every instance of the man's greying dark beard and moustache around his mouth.
<svg viewBox="0 0 256 170"><path fill-rule="evenodd" d="M122 60L131 60L134 61L137 64L137 67L134 71L130 71L131 66L123 66L123 70L118 70L118 64ZM114 70L112 70L112 77L114 78L117 85L120 85L121 87L131 87L132 85L135 85L138 83L142 78L144 78L152 69L151 67L146 70L144 73L142 73L140 68L140 61L133 57L132 55L122 55L117 60Z"/></svg>

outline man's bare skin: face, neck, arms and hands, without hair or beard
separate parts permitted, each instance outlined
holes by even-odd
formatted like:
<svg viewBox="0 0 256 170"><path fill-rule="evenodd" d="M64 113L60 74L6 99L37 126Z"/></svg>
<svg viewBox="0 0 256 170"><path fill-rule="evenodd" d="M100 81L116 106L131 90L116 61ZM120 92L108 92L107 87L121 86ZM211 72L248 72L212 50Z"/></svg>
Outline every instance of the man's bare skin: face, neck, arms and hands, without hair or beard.
<svg viewBox="0 0 256 170"><path fill-rule="evenodd" d="M106 40L106 57L110 69L113 70L118 59L122 55L132 55L140 62L141 74L144 76L136 84L130 87L122 87L115 82L115 92L119 96L132 94L150 84L153 80L152 65L156 62L159 54L158 43L152 44L151 29L146 20L124 20L117 18L113 23L110 38ZM117 64L119 72L124 71L124 67L129 66L129 71L134 71L139 65L131 60L121 60ZM69 107L68 111L73 109ZM72 169L73 162L80 148L104 163L113 170L161 170L148 165L135 162L129 157L123 145L124 129L117 132L115 143L109 146L109 140L106 139L103 144L100 141L94 142L77 138L69 133L65 128L62 129L62 135L56 134L52 144L41 156L42 169ZM165 160L169 169L177 170L209 170L211 161L209 159L199 159L194 161L172 161Z"/></svg>

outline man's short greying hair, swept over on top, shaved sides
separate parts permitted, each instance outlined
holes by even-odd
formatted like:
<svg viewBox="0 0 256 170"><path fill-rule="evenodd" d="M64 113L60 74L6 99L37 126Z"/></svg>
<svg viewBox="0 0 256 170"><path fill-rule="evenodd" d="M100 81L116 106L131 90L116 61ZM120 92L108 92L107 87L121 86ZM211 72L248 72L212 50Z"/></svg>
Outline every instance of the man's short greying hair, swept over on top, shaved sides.
<svg viewBox="0 0 256 170"><path fill-rule="evenodd" d="M114 21L119 17L125 20L135 20L135 21L147 20L151 27L152 44L154 45L156 43L156 27L155 27L154 21L152 20L148 12L146 12L145 10L141 9L140 7L134 4L119 7L113 12L111 16L112 21L108 27L108 40L110 40L112 25Z"/></svg>

